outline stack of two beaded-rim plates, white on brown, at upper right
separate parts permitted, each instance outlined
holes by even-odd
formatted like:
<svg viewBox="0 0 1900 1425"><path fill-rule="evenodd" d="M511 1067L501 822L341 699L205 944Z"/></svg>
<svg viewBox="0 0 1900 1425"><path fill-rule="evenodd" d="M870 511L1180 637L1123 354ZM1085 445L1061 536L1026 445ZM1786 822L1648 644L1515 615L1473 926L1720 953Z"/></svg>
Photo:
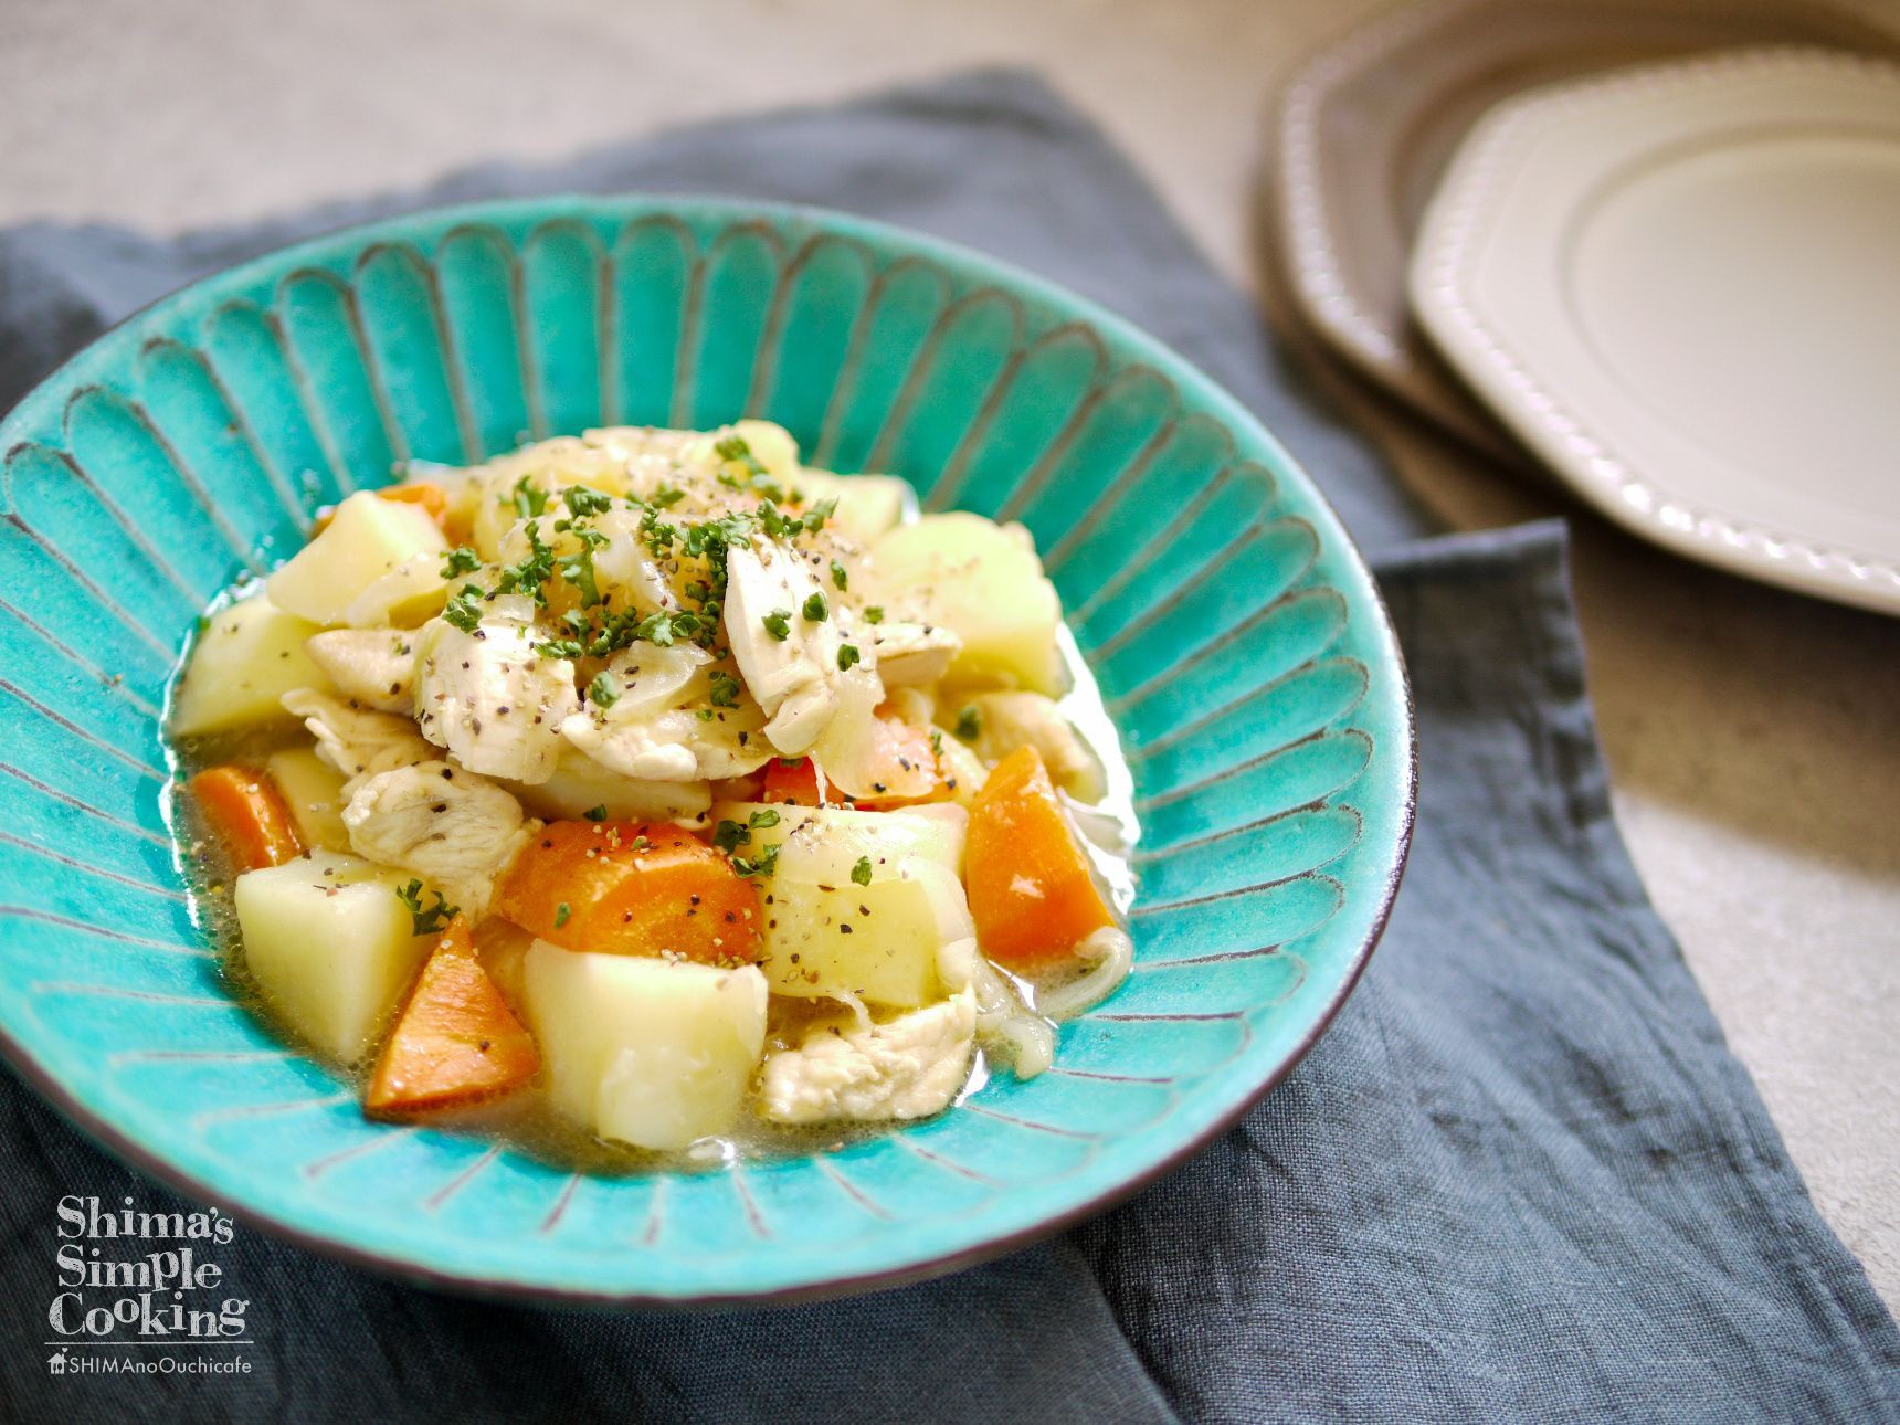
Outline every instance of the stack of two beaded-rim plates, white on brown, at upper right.
<svg viewBox="0 0 1900 1425"><path fill-rule="evenodd" d="M1900 614L1896 57L1803 0L1402 10L1288 89L1288 289L1472 446Z"/></svg>

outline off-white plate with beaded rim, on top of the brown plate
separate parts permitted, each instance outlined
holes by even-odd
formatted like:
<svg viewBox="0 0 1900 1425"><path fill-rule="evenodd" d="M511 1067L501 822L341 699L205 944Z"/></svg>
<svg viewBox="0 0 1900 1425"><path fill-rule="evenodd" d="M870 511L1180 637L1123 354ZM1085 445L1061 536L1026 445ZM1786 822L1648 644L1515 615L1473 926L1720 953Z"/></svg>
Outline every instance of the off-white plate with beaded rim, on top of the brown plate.
<svg viewBox="0 0 1900 1425"><path fill-rule="evenodd" d="M1609 517L1900 614L1900 68L1740 51L1510 101L1410 293Z"/></svg>

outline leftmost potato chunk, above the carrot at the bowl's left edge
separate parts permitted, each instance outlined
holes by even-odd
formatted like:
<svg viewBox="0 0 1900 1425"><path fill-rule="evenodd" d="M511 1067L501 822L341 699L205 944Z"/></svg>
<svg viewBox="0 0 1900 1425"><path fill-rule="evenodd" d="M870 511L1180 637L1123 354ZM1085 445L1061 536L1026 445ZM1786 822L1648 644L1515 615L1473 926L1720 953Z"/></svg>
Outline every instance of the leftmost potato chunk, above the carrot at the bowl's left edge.
<svg viewBox="0 0 1900 1425"><path fill-rule="evenodd" d="M192 648L171 701L171 735L192 737L260 722L289 722L293 688L329 688L304 640L317 625L262 593L215 614Z"/></svg>

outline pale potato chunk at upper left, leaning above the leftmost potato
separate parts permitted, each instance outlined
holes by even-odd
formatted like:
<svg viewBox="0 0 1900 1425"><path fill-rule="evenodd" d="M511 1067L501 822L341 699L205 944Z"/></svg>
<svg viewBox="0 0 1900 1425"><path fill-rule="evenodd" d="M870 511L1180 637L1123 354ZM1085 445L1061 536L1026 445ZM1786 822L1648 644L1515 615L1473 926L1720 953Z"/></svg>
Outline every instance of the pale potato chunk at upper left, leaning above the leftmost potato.
<svg viewBox="0 0 1900 1425"><path fill-rule="evenodd" d="M363 627L372 606L397 608L418 598L429 576L441 587L446 549L448 542L422 505L361 490L336 505L336 517L270 576L266 589L279 608L323 625L348 623L352 606L369 595L353 610L355 627ZM370 595L372 587L378 593Z"/></svg>

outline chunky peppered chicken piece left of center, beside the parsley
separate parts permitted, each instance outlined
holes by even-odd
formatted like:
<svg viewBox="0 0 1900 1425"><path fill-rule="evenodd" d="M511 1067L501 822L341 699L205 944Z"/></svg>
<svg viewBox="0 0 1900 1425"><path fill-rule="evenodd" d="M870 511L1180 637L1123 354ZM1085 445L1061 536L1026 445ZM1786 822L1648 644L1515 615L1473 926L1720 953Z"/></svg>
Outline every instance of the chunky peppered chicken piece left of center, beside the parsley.
<svg viewBox="0 0 1900 1425"><path fill-rule="evenodd" d="M416 633L416 726L469 771L543 783L574 712L574 663L543 657L526 598L494 598L473 631L429 619Z"/></svg>

